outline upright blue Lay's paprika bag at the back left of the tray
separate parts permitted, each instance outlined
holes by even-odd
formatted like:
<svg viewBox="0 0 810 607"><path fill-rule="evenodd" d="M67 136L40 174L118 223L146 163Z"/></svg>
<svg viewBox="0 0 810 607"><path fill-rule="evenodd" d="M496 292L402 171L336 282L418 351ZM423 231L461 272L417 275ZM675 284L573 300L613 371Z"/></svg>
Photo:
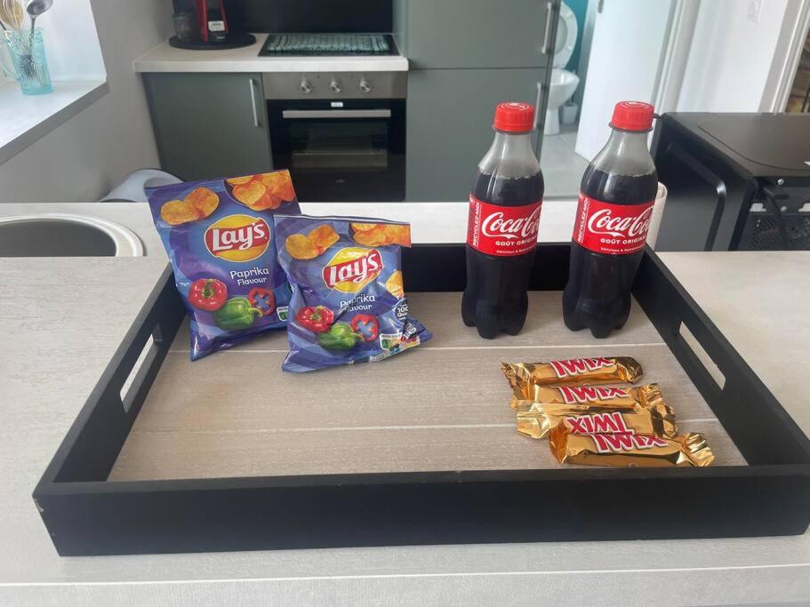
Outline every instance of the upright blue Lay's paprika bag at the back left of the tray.
<svg viewBox="0 0 810 607"><path fill-rule="evenodd" d="M191 317L191 360L283 329L290 286L273 213L298 213L289 171L148 188L149 208Z"/></svg>

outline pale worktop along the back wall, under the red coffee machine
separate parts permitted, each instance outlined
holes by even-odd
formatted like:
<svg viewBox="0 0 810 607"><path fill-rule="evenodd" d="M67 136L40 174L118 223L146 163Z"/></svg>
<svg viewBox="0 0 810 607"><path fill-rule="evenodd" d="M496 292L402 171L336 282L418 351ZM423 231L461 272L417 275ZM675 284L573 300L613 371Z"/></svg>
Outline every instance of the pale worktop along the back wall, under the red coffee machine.
<svg viewBox="0 0 810 607"><path fill-rule="evenodd" d="M406 72L402 55L356 57L260 57L267 34L241 49L187 51L159 44L132 61L136 72Z"/></svg>

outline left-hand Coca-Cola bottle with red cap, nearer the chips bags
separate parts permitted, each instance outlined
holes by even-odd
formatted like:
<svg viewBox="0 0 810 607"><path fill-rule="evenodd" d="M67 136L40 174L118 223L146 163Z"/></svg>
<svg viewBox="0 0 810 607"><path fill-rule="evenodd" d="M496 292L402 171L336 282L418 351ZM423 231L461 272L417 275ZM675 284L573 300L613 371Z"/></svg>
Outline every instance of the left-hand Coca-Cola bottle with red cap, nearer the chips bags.
<svg viewBox="0 0 810 607"><path fill-rule="evenodd" d="M528 103L498 105L493 145L478 164L469 195L461 318L487 339L500 331L516 335L525 323L544 188L532 147L533 122Z"/></svg>

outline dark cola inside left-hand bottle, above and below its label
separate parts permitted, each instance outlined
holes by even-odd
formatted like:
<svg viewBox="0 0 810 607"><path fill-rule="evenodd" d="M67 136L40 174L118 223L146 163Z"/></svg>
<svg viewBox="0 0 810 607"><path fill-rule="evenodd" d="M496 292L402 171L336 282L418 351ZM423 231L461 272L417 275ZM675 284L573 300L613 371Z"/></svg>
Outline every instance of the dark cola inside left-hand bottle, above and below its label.
<svg viewBox="0 0 810 607"><path fill-rule="evenodd" d="M477 173L472 195L499 206L522 206L542 200L542 173L517 179ZM534 251L497 257L467 245L467 288L461 299L461 318L478 334L493 339L499 332L517 335L528 307L526 286L532 272Z"/></svg>

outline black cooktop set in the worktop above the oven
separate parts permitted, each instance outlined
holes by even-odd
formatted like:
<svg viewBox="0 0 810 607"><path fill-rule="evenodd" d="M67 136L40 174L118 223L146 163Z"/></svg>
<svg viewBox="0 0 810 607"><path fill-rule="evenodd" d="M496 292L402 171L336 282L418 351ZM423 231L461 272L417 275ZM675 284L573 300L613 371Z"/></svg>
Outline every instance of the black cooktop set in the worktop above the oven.
<svg viewBox="0 0 810 607"><path fill-rule="evenodd" d="M390 34L270 34L260 57L396 55Z"/></svg>

